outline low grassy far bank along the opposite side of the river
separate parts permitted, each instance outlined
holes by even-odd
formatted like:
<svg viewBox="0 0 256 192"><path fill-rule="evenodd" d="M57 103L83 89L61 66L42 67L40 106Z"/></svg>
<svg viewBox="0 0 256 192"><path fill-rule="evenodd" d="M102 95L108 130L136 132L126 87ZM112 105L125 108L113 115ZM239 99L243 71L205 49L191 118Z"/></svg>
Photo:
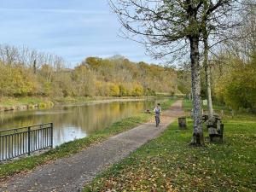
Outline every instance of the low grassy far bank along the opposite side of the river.
<svg viewBox="0 0 256 192"><path fill-rule="evenodd" d="M0 97L0 112L20 111L37 108L53 108L56 105L83 105L108 102L139 102L153 100L156 96L125 96L125 97Z"/></svg>

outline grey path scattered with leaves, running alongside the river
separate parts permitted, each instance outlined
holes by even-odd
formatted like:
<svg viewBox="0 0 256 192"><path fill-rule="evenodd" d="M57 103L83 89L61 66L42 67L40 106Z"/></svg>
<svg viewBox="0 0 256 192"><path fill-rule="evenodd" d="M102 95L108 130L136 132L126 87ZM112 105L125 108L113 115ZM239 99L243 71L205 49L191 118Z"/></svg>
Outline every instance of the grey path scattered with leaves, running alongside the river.
<svg viewBox="0 0 256 192"><path fill-rule="evenodd" d="M0 191L79 191L84 183L90 182L97 173L157 137L182 114L182 101L177 101L162 114L158 128L152 119L130 131L110 137L103 143L86 148L79 154L38 166L25 175L12 177L0 186Z"/></svg>

